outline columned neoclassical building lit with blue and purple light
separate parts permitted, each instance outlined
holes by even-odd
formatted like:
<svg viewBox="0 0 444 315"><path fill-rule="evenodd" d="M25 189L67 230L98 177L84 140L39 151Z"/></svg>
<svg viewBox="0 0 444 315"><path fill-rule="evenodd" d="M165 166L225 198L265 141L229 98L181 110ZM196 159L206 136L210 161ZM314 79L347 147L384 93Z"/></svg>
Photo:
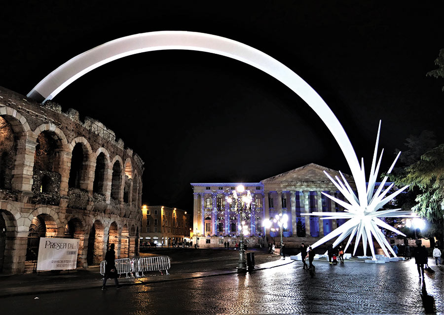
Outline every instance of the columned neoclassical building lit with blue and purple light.
<svg viewBox="0 0 444 315"><path fill-rule="evenodd" d="M340 205L322 194L324 192L343 200L342 194L324 171L333 178L341 177L337 171L308 164L260 182L242 183L253 197L246 243L254 246L263 244L264 236L280 236L280 233L265 231L262 227L263 219L280 213L286 213L289 217L288 226L283 230L287 246L299 245L302 240L313 244L343 224L343 219L319 220L317 216L301 215L316 211L343 211ZM352 177L344 177L355 189ZM225 200L238 184L191 183L194 192L193 231L199 234L200 246L223 247L225 241L230 241L230 245L238 242L240 218Z"/></svg>

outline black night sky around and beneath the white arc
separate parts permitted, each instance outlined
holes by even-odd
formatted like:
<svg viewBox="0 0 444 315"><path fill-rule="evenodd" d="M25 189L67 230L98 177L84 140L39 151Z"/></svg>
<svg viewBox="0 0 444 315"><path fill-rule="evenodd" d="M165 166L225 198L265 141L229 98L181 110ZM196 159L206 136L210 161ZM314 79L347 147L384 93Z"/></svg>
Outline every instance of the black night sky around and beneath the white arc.
<svg viewBox="0 0 444 315"><path fill-rule="evenodd" d="M379 119L382 171L410 134L427 129L444 141L444 80L426 77L444 48L442 1L19 2L1 8L0 85L24 95L109 40L194 31L238 40L294 70L332 108L367 165ZM142 157L148 205L192 210L190 182L253 182L309 163L350 173L330 131L296 94L218 55L126 57L53 101L98 119ZM116 115L121 108L136 114Z"/></svg>

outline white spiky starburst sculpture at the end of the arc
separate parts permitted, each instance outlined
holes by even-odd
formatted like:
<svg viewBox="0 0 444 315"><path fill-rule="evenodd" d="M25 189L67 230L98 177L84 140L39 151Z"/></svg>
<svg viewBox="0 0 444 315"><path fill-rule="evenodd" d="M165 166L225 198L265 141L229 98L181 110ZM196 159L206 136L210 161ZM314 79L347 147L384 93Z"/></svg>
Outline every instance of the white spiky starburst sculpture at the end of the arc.
<svg viewBox="0 0 444 315"><path fill-rule="evenodd" d="M355 255L360 238L362 237L362 242L364 246L364 255L365 256L367 255L367 241L369 241L371 254L373 256L372 259L376 260L373 241L372 241L372 236L373 236L374 239L379 243L379 245L381 246L382 250L384 251L387 257L390 257L387 248L391 251L394 257L397 257L378 226L393 231L395 233L401 234L403 236L406 235L401 233L394 227L388 225L387 223L379 219L379 217L416 217L416 215L411 214L410 211L399 211L400 209L378 211L379 209L381 209L381 207L383 207L385 204L387 204L390 200L395 198L397 195L399 195L402 191L404 191L408 187L407 185L399 189L398 191L390 194L387 197L385 196L393 187L393 183L384 191L382 191L388 178L387 175L392 172L393 167L395 166L395 163L398 160L399 155L401 154L401 152L399 152L399 154L395 158L395 161L393 162L392 166L387 172L387 175L384 177L378 189L373 194L377 174L379 171L379 166L381 164L382 153L384 152L384 149L382 149L381 155L378 160L378 164L377 166L375 166L380 130L381 130L381 121L379 121L378 135L376 137L376 145L374 148L373 161L371 164L369 184L367 185L367 190L366 190L366 176L364 171L364 159L361 160L361 168L359 172L360 177L354 178L356 187L358 188L358 197L356 197L355 193L351 189L344 175L342 175L340 171L339 174L341 175L343 182L341 181L341 179L338 178L338 176L335 176L336 180L334 180L330 175L327 174L327 172L324 171L324 173L327 175L327 177L329 177L329 179L333 182L333 184L337 187L337 189L342 193L342 195L345 197L348 203L339 200L337 198L334 198L333 196L330 196L324 192L322 192L322 194L332 199L335 203L344 207L345 212L313 212L313 213L301 213L301 214L325 216L321 218L321 220L331 220L331 219L349 219L349 220L346 221L337 229L335 229L333 232L324 236L321 240L319 240L315 244L311 245L312 248L324 244L325 242L339 235L339 237L333 243L333 247L335 247L339 243L341 243L347 236L350 235L347 245L344 248L345 252L345 250L350 245L350 242L352 241L353 237L356 235L355 249L353 251L353 255Z"/></svg>

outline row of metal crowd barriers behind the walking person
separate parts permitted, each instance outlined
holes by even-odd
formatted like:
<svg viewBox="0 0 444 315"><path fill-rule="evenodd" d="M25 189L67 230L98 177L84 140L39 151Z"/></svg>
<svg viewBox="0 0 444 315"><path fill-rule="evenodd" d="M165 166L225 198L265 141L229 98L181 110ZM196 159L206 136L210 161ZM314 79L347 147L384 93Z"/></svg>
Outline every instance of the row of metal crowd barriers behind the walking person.
<svg viewBox="0 0 444 315"><path fill-rule="evenodd" d="M100 263L100 274L105 276L105 266L107 262ZM169 256L154 256L154 257L135 257L122 258L115 260L115 267L119 278L125 274L125 278L140 278L144 277L144 272L160 271L162 270L169 275L168 269L171 268L171 258Z"/></svg>

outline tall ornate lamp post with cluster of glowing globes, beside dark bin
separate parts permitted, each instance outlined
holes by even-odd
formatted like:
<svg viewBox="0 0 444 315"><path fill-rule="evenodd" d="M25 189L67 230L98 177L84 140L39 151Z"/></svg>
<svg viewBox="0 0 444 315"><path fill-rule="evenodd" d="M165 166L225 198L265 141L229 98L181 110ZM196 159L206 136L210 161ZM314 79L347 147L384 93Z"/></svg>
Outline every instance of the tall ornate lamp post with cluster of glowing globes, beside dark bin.
<svg viewBox="0 0 444 315"><path fill-rule="evenodd" d="M253 201L250 190L245 190L243 185L238 185L232 194L227 196L226 202L230 205L233 204L234 211L239 214L241 225L241 239L239 242L239 261L237 263L237 272L247 272L247 261L245 260L245 247L244 247L244 235L248 235L247 214L250 212L250 205Z"/></svg>

